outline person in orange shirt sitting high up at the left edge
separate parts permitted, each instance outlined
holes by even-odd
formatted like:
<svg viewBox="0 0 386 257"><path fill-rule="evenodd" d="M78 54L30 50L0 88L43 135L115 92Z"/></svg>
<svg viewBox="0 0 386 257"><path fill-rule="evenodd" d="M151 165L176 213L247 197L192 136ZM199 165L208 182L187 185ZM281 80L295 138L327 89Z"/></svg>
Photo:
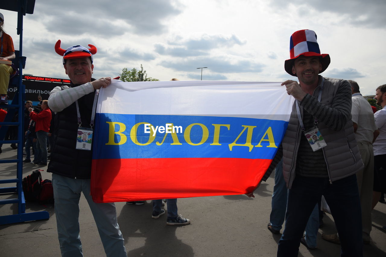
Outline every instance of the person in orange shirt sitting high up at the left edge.
<svg viewBox="0 0 386 257"><path fill-rule="evenodd" d="M15 59L15 49L12 37L5 33L4 15L0 13L0 60ZM8 84L9 76L14 73L14 69L8 65L0 63L0 104L8 104Z"/></svg>

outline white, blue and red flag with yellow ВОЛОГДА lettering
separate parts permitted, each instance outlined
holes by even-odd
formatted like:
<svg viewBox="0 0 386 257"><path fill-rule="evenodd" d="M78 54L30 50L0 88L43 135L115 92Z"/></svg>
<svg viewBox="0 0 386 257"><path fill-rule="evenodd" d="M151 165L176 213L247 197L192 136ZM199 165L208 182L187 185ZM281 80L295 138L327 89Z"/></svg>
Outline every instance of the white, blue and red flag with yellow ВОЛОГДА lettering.
<svg viewBox="0 0 386 257"><path fill-rule="evenodd" d="M276 154L292 105L273 82L113 80L97 104L93 200L250 192Z"/></svg>

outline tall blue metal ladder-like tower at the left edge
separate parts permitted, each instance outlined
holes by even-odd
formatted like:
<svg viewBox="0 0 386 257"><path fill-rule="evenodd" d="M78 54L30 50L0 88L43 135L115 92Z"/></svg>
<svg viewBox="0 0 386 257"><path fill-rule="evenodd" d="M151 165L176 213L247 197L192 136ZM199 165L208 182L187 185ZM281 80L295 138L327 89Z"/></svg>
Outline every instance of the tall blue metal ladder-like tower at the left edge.
<svg viewBox="0 0 386 257"><path fill-rule="evenodd" d="M14 64L19 64L19 76L15 76L11 81L11 85L18 85L17 93L12 100L12 103L3 108L8 108L7 116L4 122L0 122L2 127L0 128L0 144L11 143L18 144L17 159L0 160L0 163L16 163L16 178L14 179L1 179L0 184L16 183L14 187L0 188L0 193L17 193L17 198L0 200L0 204L18 204L18 213L14 215L0 216L0 225L19 223L32 220L47 220L49 219L49 213L47 211L36 211L31 213L25 213L25 200L22 189L23 178L23 142L24 134L24 95L25 86L22 83L22 70L25 65L25 57L22 56L22 42L23 42L23 16L25 14L33 14L35 6L35 0L13 0L2 1L0 3L0 9L10 10L17 12L17 34L20 35L20 49L15 51L16 58ZM12 118L15 113L18 112L17 122L12 122ZM5 134L9 126L17 126L17 140L4 141Z"/></svg>

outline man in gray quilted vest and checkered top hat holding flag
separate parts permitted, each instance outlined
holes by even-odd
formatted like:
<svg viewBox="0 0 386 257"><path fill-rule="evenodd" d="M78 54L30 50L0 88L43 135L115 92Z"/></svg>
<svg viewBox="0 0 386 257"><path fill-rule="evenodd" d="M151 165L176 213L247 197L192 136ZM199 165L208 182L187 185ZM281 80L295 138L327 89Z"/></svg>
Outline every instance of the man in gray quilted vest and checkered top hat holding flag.
<svg viewBox="0 0 386 257"><path fill-rule="evenodd" d="M343 79L318 75L330 64L320 54L312 30L299 30L290 39L284 69L299 83L287 80L296 100L282 145L265 181L283 157L288 204L278 256L297 256L308 217L321 196L330 206L342 245L341 256L362 256L361 206L355 173L363 167L351 121L351 86ZM313 143L312 136L319 140ZM250 194L251 196L251 194Z"/></svg>

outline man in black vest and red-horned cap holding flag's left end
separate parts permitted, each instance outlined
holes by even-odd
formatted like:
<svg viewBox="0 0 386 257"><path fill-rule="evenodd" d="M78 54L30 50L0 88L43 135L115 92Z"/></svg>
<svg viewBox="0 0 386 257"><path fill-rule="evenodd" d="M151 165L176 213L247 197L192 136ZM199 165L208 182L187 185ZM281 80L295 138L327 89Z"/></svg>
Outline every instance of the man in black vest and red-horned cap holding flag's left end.
<svg viewBox="0 0 386 257"><path fill-rule="evenodd" d="M78 145L80 131L92 137L92 110L96 106L96 90L110 85L111 78L95 80L93 54L95 46L73 46L61 49L60 40L55 51L63 56L70 87L57 86L48 98L55 115L55 143L47 172L52 172L55 213L62 256L81 256L79 235L79 199L85 196L93 213L100 238L107 256L127 256L124 238L119 230L114 203L94 203L90 195L92 143L82 149ZM92 121L92 122L91 122ZM81 130L79 127L82 127ZM90 136L91 135L91 136Z"/></svg>

